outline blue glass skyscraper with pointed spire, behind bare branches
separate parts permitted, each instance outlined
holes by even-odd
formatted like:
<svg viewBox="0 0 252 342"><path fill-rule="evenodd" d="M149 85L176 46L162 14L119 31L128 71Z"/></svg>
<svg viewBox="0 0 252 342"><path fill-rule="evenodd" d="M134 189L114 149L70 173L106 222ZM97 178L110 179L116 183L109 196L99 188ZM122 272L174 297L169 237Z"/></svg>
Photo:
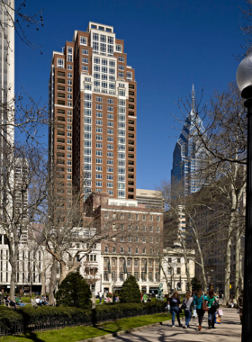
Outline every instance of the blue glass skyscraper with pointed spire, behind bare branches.
<svg viewBox="0 0 252 342"><path fill-rule="evenodd" d="M172 184L177 186L177 183L181 182L184 186L185 195L196 193L202 186L202 180L198 174L202 151L198 146L198 130L195 123L197 123L197 128L203 132L202 121L196 116L194 110L193 87L191 112L185 119L183 130L175 144L171 171Z"/></svg>

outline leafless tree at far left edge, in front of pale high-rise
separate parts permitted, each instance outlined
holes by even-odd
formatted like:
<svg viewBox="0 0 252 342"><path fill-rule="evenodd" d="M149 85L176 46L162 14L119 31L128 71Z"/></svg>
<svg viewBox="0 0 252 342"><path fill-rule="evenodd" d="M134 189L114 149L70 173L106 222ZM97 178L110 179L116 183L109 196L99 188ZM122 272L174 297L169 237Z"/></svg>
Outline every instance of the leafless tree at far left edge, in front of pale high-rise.
<svg viewBox="0 0 252 342"><path fill-rule="evenodd" d="M3 229L9 247L9 262L12 266L11 298L14 299L16 284L16 265L19 246L32 222L40 211L45 199L43 175L43 157L29 146L18 147L4 154L4 166L1 168L0 226Z"/></svg>

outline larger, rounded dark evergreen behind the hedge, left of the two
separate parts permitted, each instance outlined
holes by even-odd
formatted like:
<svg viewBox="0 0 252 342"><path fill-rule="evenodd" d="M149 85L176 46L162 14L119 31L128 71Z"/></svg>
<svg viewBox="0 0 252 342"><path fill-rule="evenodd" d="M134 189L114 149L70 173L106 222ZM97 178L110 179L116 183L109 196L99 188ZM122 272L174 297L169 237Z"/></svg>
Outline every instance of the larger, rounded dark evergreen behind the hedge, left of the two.
<svg viewBox="0 0 252 342"><path fill-rule="evenodd" d="M73 272L58 286L56 300L57 305L88 309L92 307L91 296L89 285L83 276Z"/></svg>

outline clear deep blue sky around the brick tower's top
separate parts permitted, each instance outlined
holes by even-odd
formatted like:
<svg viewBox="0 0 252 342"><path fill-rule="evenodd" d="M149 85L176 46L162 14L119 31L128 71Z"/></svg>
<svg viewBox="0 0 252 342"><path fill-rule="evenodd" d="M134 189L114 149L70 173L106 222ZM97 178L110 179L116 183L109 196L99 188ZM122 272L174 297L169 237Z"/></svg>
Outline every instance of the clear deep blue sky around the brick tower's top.
<svg viewBox="0 0 252 342"><path fill-rule="evenodd" d="M170 179L181 129L172 114L182 117L175 102L191 92L192 84L196 93L204 86L207 100L235 79L234 55L244 38L239 7L246 7L245 0L27 0L26 14L44 8L44 27L25 30L43 54L16 37L16 91L23 86L46 103L52 51L61 51L90 21L112 25L124 40L128 65L136 69L137 187L155 189L160 180Z"/></svg>

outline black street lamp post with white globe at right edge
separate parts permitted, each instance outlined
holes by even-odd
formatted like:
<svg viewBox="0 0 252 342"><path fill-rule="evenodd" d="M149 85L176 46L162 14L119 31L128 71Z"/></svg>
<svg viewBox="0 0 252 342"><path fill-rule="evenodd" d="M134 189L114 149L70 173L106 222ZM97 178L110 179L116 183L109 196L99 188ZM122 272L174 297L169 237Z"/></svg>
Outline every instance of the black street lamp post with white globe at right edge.
<svg viewBox="0 0 252 342"><path fill-rule="evenodd" d="M252 342L252 48L237 70L237 84L247 108L247 198L242 342Z"/></svg>

